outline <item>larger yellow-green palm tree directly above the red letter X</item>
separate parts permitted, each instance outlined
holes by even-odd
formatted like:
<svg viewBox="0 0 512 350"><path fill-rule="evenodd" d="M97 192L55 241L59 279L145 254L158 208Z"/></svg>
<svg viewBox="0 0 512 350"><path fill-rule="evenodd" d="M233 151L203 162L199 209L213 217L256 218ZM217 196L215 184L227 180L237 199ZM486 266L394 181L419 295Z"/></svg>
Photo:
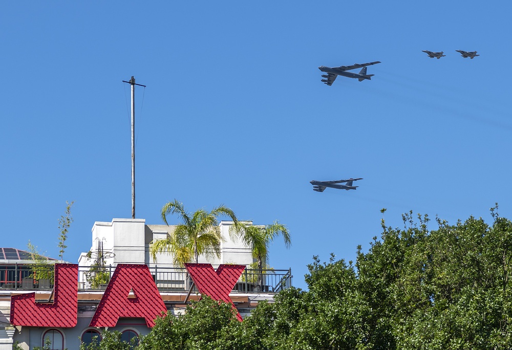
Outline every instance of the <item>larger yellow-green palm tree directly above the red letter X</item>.
<svg viewBox="0 0 512 350"><path fill-rule="evenodd" d="M205 254L207 258L214 255L220 258L223 238L218 216L229 216L235 224L238 223L234 212L223 205L210 212L199 209L191 213L185 210L183 203L174 200L162 207L162 220L165 224L167 224L166 215L168 214L177 214L183 223L177 225L166 239L154 240L151 245L151 254L153 260L156 260L157 253L172 253L174 264L180 267L183 267L186 262L195 261L197 264L200 254Z"/></svg>

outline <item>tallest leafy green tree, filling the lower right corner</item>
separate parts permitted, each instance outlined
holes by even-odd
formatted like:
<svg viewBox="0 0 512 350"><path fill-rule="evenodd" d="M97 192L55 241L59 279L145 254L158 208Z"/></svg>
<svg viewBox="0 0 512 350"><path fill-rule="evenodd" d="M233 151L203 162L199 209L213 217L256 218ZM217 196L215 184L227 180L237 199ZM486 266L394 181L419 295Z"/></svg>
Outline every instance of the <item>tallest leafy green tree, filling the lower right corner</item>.
<svg viewBox="0 0 512 350"><path fill-rule="evenodd" d="M437 218L432 231L428 217L417 224L410 212L403 230L382 225L370 251L359 250L359 291L392 348L511 347L512 225L495 211L492 226L473 216L455 225Z"/></svg>

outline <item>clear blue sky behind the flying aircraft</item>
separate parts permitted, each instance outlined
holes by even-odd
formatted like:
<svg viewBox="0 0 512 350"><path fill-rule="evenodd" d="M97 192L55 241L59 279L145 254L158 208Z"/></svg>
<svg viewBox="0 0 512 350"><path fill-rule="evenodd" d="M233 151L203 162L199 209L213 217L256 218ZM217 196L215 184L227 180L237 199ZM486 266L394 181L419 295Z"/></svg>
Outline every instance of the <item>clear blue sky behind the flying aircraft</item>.
<svg viewBox="0 0 512 350"><path fill-rule="evenodd" d="M510 18L504 1L3 2L0 246L65 259L95 221L177 199L288 226L270 265L305 287L313 255L354 259L401 214L511 217ZM421 50L444 51L431 59ZM455 50L478 51L464 59ZM319 65L381 61L371 81ZM357 72L357 71L356 71ZM364 178L356 191L310 180ZM170 224L177 218L170 218ZM435 229L435 221L429 228Z"/></svg>

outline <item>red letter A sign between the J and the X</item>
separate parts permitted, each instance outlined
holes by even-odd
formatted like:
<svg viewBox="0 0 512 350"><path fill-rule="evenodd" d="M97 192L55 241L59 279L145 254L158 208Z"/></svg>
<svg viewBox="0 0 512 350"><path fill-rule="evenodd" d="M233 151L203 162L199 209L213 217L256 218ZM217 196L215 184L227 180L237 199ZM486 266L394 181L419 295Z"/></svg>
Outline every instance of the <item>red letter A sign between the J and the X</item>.
<svg viewBox="0 0 512 350"><path fill-rule="evenodd" d="M129 298L133 290L134 298ZM119 264L106 287L90 327L114 327L119 317L143 317L148 327L167 312L146 265Z"/></svg>

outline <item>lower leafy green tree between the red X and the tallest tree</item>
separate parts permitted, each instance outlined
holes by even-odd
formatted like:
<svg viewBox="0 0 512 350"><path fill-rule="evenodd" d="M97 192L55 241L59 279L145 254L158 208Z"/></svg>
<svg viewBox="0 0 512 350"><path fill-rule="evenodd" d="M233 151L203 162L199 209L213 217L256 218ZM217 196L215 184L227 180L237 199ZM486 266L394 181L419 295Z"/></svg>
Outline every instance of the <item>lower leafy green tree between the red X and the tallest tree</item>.
<svg viewBox="0 0 512 350"><path fill-rule="evenodd" d="M357 289L354 266L314 257L306 275L309 291L290 288L262 303L250 320L266 349L361 349L370 347L372 311Z"/></svg>

